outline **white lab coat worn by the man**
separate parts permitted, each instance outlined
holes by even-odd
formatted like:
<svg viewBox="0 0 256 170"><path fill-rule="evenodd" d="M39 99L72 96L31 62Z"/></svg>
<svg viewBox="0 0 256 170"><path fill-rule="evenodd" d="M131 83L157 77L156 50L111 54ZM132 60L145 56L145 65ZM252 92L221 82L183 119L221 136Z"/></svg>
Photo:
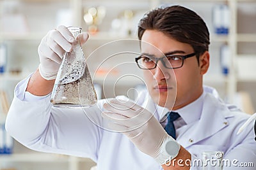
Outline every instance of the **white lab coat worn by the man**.
<svg viewBox="0 0 256 170"><path fill-rule="evenodd" d="M162 169L123 134L106 130L108 122L100 116L106 100L100 100L97 106L85 110L54 108L49 102L50 96L25 94L27 83L28 78L17 85L6 119L6 130L23 145L40 152L90 157L97 162L99 170ZM157 113L159 110L156 110L156 104L150 97L148 101L147 96L147 92L141 93L137 104L156 111L154 115L160 120L163 114ZM192 161L200 159L204 151L218 150L224 152L224 159L237 159L237 166L241 162L253 162L256 166L253 124L236 135L248 117L237 108L225 105L211 89L205 89L200 119L181 127L177 141L191 153Z"/></svg>

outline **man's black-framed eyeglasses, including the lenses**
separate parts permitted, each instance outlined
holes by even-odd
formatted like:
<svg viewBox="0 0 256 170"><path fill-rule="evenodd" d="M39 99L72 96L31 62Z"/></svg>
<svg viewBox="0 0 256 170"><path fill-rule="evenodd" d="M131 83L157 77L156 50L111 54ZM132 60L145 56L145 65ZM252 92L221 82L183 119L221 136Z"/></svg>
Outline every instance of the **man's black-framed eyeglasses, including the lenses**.
<svg viewBox="0 0 256 170"><path fill-rule="evenodd" d="M135 61L140 69L154 69L159 60L161 60L163 66L168 69L178 69L183 66L184 59L188 59L195 55L196 53L189 53L188 55L166 55L161 58L140 55L140 57L135 58Z"/></svg>

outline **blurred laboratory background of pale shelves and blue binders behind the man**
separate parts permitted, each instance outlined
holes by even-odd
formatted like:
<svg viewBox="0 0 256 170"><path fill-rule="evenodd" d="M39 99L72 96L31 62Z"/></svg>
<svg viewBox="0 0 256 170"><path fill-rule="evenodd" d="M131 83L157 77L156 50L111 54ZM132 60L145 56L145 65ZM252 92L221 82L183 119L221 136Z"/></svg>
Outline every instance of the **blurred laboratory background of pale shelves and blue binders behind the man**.
<svg viewBox="0 0 256 170"><path fill-rule="evenodd" d="M145 88L134 58L137 25L157 6L196 11L210 31L204 84L248 114L256 108L256 0L0 0L0 170L87 170L90 159L31 151L8 136L4 122L15 85L36 70L41 39L58 25L89 32L83 46L98 99L136 98ZM117 55L119 51L135 52ZM83 129L81 129L83 130Z"/></svg>

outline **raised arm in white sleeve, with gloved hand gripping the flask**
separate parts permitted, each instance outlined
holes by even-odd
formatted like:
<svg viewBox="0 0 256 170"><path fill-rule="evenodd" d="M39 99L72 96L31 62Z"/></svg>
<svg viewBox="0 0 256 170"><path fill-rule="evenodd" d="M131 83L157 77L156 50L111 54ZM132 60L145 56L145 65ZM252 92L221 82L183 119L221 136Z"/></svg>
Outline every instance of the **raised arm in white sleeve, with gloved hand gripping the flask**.
<svg viewBox="0 0 256 170"><path fill-rule="evenodd" d="M62 54L72 50L70 39L67 41L69 34L67 28L61 26L49 31L42 39L38 46L39 69L15 87L6 118L6 131L33 150L92 157L97 150L97 141L100 141L99 128L86 117L84 110L55 108L50 103L49 94ZM88 34L82 33L78 38L82 45L88 39ZM102 120L100 106L86 108L87 114L92 114L91 118L98 124ZM73 145L74 139L76 145Z"/></svg>

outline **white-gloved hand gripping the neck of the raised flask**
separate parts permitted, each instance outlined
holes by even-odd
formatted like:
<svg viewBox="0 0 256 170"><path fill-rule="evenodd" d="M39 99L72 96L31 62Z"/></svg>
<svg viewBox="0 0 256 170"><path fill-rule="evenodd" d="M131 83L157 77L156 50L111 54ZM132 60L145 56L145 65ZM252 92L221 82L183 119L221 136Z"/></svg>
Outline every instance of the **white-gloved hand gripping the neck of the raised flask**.
<svg viewBox="0 0 256 170"><path fill-rule="evenodd" d="M87 33L81 33L77 36L83 45L88 39ZM56 78L62 58L65 52L72 50L74 36L68 31L67 27L61 25L57 29L49 31L38 46L38 55L40 59L39 72L45 80Z"/></svg>

